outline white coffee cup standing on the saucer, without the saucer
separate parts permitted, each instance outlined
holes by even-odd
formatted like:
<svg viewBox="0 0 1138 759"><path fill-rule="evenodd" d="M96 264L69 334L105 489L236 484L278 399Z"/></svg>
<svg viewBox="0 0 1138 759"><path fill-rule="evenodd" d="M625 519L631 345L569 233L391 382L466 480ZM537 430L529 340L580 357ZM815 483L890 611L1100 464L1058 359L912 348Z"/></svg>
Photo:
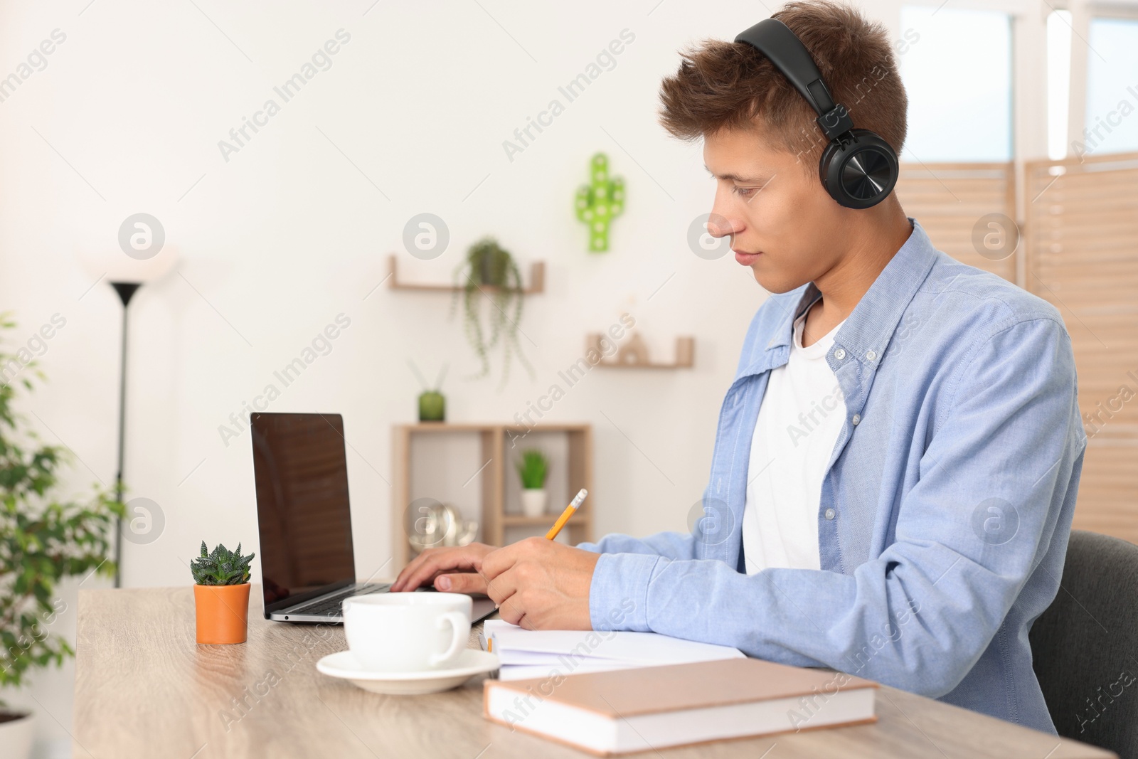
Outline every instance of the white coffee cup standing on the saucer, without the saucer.
<svg viewBox="0 0 1138 759"><path fill-rule="evenodd" d="M344 634L365 669L446 669L470 640L471 605L461 593L354 595L344 601Z"/></svg>

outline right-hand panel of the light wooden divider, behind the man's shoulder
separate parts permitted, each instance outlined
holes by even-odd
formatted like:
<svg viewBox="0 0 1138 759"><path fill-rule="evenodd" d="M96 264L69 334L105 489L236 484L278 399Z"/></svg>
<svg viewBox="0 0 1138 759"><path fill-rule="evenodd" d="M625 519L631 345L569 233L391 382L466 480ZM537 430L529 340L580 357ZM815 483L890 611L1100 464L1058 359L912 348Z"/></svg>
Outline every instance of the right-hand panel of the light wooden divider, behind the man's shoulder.
<svg viewBox="0 0 1138 759"><path fill-rule="evenodd" d="M1138 543L1138 154L1025 173L1026 288L1062 312L1079 370L1074 525Z"/></svg>

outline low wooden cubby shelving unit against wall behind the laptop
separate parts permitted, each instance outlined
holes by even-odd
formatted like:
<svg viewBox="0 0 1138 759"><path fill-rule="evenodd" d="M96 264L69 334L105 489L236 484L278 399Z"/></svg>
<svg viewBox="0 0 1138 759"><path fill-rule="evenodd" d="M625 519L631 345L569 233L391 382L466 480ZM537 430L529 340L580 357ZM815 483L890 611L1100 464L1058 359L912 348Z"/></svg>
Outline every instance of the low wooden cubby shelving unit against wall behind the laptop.
<svg viewBox="0 0 1138 759"><path fill-rule="evenodd" d="M391 430L395 498L391 541L398 571L417 553L407 541L407 509L418 498L457 506L478 520L476 539L505 545L543 535L580 488L585 504L562 530L570 544L593 539L593 428L591 424L431 423L397 424ZM514 461L525 448L541 448L550 457L547 513L521 513L520 484Z"/></svg>

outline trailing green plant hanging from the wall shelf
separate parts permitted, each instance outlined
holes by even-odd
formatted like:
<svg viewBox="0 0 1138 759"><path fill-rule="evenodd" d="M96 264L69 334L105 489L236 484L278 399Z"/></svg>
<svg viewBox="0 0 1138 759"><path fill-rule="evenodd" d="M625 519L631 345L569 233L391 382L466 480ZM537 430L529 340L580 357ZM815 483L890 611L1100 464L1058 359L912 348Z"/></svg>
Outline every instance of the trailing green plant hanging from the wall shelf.
<svg viewBox="0 0 1138 759"><path fill-rule="evenodd" d="M455 290L452 314L461 294L467 340L481 363L480 371L470 379L480 379L489 373L489 353L498 344L502 345L500 389L510 376L510 362L514 354L533 377L534 368L518 343L525 288L513 256L493 237L485 237L470 246L465 259L454 270L454 278L461 289ZM484 300L488 302L485 324L481 313Z"/></svg>

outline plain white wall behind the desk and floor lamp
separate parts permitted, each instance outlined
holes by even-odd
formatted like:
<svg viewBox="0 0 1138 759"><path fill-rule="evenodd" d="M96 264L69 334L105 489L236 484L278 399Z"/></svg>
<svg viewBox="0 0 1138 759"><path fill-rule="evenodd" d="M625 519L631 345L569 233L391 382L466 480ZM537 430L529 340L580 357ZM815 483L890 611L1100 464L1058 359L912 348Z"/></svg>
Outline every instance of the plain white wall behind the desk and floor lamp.
<svg viewBox="0 0 1138 759"><path fill-rule="evenodd" d="M131 306L126 472L131 495L156 501L166 525L149 545L126 544L126 586L189 584L201 539L256 550L248 437L225 446L217 428L340 313L351 328L271 410L344 414L361 572L390 555L390 427L413 420L419 391L406 360L429 377L451 362L450 420L509 420L622 311L660 358L676 335L694 335L695 368L594 370L546 419L594 424L602 534L685 528L765 295L729 255L707 262L688 249L712 183L700 146L657 124L658 84L678 48L732 36L766 15L761 3L88 3L0 6L0 76L53 30L66 34L0 102L0 306L15 311L19 340L52 314L66 319L41 358L50 383L20 406L76 454L63 492L96 477L109 485L121 307L105 282L88 292L94 277L75 250L123 255L119 224L146 212L181 251L179 272ZM281 104L272 88L340 28L351 42L332 67ZM635 41L616 67L508 159L503 140L552 98L564 102L558 86L626 28ZM271 97L280 113L224 160L218 140ZM572 215L596 150L628 187L603 255L585 251ZM448 281L485 233L523 264L547 262L546 292L521 323L535 380L516 365L498 393L495 365L464 381L477 364L447 296L385 286L364 300L421 212L445 218L452 242L434 262L401 254L409 278ZM35 678L49 746L66 743L72 667Z"/></svg>

